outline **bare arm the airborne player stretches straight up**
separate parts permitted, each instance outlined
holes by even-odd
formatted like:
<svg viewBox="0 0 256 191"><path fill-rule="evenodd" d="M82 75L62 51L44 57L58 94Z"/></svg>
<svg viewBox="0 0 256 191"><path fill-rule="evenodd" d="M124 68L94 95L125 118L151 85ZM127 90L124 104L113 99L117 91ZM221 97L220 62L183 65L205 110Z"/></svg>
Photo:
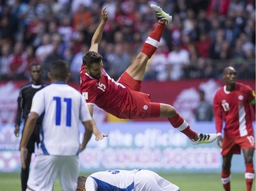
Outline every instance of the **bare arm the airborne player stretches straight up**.
<svg viewBox="0 0 256 191"><path fill-rule="evenodd" d="M91 39L91 47L89 48L89 51L94 51L94 52L98 52L98 46L100 44L100 40L102 38L102 33L103 33L103 30L104 30L104 27L105 27L105 24L106 24L106 21L109 19L109 16L106 12L106 8L108 6L105 6L102 8L102 11L101 11L101 21L100 21L100 24L98 25L95 33L94 33L94 36L92 37Z"/></svg>

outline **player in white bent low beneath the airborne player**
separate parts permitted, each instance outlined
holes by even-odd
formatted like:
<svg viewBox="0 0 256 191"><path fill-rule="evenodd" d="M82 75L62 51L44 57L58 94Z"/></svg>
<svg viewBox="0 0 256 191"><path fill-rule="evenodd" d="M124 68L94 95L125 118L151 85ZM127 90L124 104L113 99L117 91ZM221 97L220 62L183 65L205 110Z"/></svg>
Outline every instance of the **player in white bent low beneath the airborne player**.
<svg viewBox="0 0 256 191"><path fill-rule="evenodd" d="M76 191L97 190L180 191L180 188L153 171L143 169L100 171L87 178L79 177Z"/></svg>

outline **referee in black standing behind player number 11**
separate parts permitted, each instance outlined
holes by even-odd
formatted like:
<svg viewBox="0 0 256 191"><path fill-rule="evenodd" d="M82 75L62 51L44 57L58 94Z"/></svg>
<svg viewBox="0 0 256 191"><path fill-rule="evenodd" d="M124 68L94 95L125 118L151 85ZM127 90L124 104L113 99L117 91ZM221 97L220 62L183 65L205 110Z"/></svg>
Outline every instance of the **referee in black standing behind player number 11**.
<svg viewBox="0 0 256 191"><path fill-rule="evenodd" d="M25 84L20 88L20 92L18 95L18 110L16 115L16 124L15 124L15 130L14 134L16 137L19 136L20 132L20 123L22 120L24 120L24 124L27 120L27 117L29 115L29 111L31 109L31 103L33 96L36 92L39 90L42 90L47 84L44 84L42 82L42 66L38 63L33 63L29 67L29 74L31 76L32 82L29 84ZM37 145L40 142L40 128L42 126L42 119L38 118L38 121L36 122L35 129L33 131L33 134L31 135L29 142L27 143L27 159L26 159L26 169L21 168L21 188L23 191L27 188L27 179L29 178L29 164L31 161L31 155L35 151L35 143ZM23 137L21 137L22 139Z"/></svg>

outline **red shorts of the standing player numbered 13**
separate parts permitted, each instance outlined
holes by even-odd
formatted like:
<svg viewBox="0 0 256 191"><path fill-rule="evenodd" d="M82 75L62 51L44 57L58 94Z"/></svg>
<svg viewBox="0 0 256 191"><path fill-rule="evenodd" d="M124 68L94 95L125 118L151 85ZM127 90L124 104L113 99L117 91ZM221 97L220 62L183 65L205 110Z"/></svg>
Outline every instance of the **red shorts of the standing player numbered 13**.
<svg viewBox="0 0 256 191"><path fill-rule="evenodd" d="M253 148L255 149L255 139L253 135L244 137L225 137L223 138L223 146L221 154L227 156L228 154L241 154L241 149Z"/></svg>

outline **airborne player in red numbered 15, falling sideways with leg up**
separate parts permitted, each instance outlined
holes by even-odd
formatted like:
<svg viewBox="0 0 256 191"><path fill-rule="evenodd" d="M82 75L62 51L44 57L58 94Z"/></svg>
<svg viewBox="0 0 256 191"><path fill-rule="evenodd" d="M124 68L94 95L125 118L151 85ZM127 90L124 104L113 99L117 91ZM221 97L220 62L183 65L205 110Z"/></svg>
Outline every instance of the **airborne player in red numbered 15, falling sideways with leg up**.
<svg viewBox="0 0 256 191"><path fill-rule="evenodd" d="M132 65L115 82L104 70L102 56L98 54L104 25L108 20L106 7L102 9L102 20L91 39L89 52L83 56L80 73L81 93L88 103L91 116L93 115L94 104L96 104L117 118L168 118L171 125L184 133L194 145L214 141L216 134L196 133L177 114L173 106L164 103L152 103L149 94L140 92L147 61L158 48L162 33L167 24L171 22L172 17L163 12L160 7L151 5L156 13L156 18L158 18L158 25L147 37L141 52L134 59Z"/></svg>

